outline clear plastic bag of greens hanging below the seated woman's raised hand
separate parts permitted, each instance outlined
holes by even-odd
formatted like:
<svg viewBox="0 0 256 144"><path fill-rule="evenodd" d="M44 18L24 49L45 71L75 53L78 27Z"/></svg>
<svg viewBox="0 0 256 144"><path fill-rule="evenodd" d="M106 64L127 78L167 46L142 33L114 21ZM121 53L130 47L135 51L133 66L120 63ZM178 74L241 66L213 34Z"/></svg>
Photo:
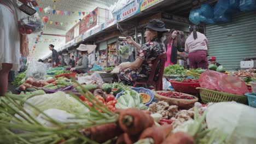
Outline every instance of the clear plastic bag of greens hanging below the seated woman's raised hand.
<svg viewBox="0 0 256 144"><path fill-rule="evenodd" d="M118 53L122 58L128 59L129 56L132 55L132 51L131 45L127 44L126 41L120 43Z"/></svg>

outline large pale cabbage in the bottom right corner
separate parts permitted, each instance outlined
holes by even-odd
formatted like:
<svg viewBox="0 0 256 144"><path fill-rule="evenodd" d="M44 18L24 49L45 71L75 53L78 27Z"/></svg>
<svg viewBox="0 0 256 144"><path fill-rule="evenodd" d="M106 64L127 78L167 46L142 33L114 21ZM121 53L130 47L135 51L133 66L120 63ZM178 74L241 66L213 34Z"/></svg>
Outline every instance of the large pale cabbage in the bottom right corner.
<svg viewBox="0 0 256 144"><path fill-rule="evenodd" d="M206 122L209 129L227 134L227 142L255 143L256 109L235 102L216 103L208 107Z"/></svg>

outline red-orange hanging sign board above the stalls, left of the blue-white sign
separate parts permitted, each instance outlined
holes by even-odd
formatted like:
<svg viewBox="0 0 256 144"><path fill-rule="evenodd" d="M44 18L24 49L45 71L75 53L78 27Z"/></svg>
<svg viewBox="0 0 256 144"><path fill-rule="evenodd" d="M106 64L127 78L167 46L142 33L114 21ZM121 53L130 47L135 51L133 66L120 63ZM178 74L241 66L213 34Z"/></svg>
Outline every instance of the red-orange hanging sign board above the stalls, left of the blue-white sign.
<svg viewBox="0 0 256 144"><path fill-rule="evenodd" d="M98 8L90 12L87 16L84 17L84 19L79 22L79 34L83 34L84 32L97 25L97 15Z"/></svg>

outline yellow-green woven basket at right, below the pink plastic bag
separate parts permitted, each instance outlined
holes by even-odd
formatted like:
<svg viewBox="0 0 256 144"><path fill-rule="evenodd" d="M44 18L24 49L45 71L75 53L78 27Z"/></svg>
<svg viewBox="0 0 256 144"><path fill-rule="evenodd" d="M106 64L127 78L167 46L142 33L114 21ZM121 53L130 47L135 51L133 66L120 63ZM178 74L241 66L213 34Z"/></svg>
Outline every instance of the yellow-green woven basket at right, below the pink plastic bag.
<svg viewBox="0 0 256 144"><path fill-rule="evenodd" d="M212 91L210 89L205 89L201 87L197 87L196 89L200 89L200 97L202 99L202 102L205 104L210 102L218 103L222 101L236 101L237 103L247 104L247 97L245 97L244 95Z"/></svg>

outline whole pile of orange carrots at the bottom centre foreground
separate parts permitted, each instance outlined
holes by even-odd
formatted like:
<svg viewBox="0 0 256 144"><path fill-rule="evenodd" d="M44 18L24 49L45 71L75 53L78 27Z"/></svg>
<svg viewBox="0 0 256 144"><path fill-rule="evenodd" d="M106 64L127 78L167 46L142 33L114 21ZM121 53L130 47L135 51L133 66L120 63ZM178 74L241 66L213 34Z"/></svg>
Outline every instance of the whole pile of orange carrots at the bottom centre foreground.
<svg viewBox="0 0 256 144"><path fill-rule="evenodd" d="M82 133L100 143L114 140L117 144L130 144L144 139L164 144L195 143L193 136L187 133L171 133L171 124L156 126L149 111L131 108L116 110L115 113L118 116L117 122L84 129Z"/></svg>

